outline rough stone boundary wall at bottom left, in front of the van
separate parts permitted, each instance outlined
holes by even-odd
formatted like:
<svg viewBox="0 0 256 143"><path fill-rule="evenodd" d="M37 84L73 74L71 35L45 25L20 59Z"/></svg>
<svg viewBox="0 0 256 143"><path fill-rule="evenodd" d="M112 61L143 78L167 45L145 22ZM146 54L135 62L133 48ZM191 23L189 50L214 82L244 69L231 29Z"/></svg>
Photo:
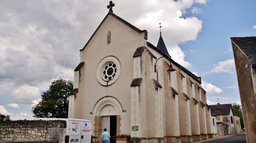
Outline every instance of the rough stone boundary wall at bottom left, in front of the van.
<svg viewBox="0 0 256 143"><path fill-rule="evenodd" d="M65 140L66 128L63 120L0 121L0 143L61 143Z"/></svg>

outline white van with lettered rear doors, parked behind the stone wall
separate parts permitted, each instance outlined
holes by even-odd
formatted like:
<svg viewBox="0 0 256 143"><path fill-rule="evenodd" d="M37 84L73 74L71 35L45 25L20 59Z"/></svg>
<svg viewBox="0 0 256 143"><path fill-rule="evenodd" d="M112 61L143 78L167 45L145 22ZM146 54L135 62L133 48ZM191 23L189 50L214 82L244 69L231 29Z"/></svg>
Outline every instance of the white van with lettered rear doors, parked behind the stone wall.
<svg viewBox="0 0 256 143"><path fill-rule="evenodd" d="M33 120L64 120L67 122L65 143L91 143L92 122L83 119L35 118Z"/></svg>

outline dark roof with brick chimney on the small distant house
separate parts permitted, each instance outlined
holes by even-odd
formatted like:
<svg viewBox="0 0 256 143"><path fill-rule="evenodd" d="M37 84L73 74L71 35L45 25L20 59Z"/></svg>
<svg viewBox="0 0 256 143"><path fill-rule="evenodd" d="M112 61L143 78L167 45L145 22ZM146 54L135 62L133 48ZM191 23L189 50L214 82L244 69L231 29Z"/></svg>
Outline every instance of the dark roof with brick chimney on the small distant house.
<svg viewBox="0 0 256 143"><path fill-rule="evenodd" d="M217 105L209 105L211 108L211 114L214 115L229 115L231 104L217 104ZM222 107L222 114L220 114L220 106Z"/></svg>

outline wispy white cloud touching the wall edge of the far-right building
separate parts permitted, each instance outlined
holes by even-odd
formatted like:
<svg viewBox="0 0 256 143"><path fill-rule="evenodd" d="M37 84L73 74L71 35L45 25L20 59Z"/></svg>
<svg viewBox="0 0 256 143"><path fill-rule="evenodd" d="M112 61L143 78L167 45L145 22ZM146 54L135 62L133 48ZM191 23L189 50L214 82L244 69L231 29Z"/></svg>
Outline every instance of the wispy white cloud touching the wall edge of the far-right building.
<svg viewBox="0 0 256 143"><path fill-rule="evenodd" d="M213 64L213 69L209 72L204 72L203 74L208 73L220 73L220 72L227 72L227 73L233 73L235 69L235 60L234 59L228 59L221 62L218 62L217 64Z"/></svg>

